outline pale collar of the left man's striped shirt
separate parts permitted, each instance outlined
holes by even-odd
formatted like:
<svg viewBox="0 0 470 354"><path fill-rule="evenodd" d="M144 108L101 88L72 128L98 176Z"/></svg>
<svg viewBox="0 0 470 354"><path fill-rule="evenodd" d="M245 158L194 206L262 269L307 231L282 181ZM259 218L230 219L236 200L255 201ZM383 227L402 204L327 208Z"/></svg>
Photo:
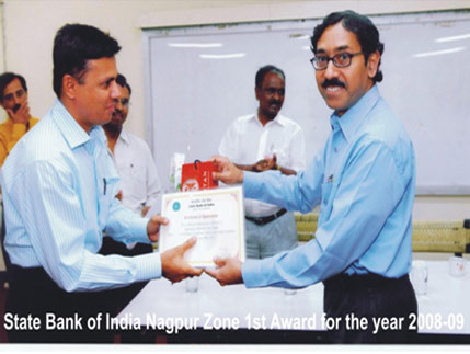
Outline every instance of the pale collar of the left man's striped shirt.
<svg viewBox="0 0 470 354"><path fill-rule="evenodd" d="M106 136L104 135L101 126L94 126L90 130L90 134L87 134L87 132L71 116L69 111L67 111L60 100L56 100L51 111L54 122L71 149L87 144L90 139L99 140L103 145L106 144Z"/></svg>

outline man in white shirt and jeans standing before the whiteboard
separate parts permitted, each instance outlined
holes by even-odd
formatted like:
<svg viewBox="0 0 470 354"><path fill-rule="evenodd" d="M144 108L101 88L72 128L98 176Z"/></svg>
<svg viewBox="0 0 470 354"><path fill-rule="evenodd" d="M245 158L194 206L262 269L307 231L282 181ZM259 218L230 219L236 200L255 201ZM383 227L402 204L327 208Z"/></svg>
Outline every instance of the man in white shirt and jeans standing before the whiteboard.
<svg viewBox="0 0 470 354"><path fill-rule="evenodd" d="M255 77L257 112L237 118L219 146L247 171L278 170L297 174L305 169L305 136L301 127L279 113L285 98L285 75L275 66L262 67ZM294 214L284 208L245 199L247 256L262 259L298 243Z"/></svg>

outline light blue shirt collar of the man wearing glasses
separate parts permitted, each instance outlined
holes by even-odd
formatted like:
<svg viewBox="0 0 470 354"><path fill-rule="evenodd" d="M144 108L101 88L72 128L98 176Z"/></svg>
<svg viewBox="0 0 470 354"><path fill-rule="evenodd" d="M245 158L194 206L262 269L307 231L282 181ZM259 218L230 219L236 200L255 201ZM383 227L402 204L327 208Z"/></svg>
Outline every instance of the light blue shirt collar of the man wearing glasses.
<svg viewBox="0 0 470 354"><path fill-rule="evenodd" d="M334 129L340 126L346 140L349 140L357 127L367 116L369 111L376 105L380 98L377 84L374 84L351 109L348 109L341 117L333 113L330 117L330 123Z"/></svg>

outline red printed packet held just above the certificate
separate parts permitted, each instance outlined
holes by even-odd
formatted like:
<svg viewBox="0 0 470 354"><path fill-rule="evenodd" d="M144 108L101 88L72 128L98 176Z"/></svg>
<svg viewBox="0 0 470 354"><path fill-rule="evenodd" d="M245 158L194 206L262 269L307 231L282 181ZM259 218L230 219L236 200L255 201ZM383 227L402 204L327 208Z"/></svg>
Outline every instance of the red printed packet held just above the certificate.
<svg viewBox="0 0 470 354"><path fill-rule="evenodd" d="M184 163L181 172L181 191L198 191L217 187L219 184L213 179L213 161Z"/></svg>

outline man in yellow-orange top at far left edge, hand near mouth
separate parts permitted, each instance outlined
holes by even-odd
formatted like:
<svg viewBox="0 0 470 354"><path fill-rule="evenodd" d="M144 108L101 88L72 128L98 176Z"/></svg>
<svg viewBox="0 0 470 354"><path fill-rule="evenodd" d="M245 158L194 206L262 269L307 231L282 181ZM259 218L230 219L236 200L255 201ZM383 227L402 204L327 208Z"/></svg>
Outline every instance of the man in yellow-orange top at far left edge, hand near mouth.
<svg viewBox="0 0 470 354"><path fill-rule="evenodd" d="M7 111L8 119L0 124L0 167L11 149L37 122L30 114L26 80L18 73L0 76L0 105Z"/></svg>

